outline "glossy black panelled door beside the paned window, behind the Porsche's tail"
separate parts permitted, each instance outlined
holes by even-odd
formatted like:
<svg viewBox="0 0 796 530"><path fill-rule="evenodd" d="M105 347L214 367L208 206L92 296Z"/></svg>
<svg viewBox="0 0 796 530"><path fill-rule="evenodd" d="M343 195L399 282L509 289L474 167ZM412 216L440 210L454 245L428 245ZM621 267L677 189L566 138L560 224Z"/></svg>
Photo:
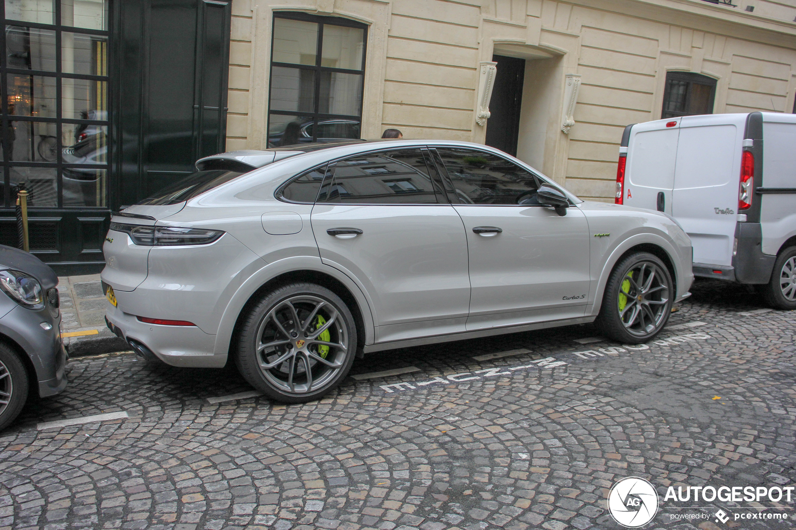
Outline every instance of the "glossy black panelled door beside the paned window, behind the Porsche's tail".
<svg viewBox="0 0 796 530"><path fill-rule="evenodd" d="M230 5L150 0L121 10L116 203L125 207L224 151Z"/></svg>

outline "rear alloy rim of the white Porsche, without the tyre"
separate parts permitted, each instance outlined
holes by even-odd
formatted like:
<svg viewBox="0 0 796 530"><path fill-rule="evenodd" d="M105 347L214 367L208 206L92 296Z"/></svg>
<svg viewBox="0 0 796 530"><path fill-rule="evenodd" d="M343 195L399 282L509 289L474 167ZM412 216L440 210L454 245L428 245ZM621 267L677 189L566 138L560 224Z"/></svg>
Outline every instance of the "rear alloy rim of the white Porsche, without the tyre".
<svg viewBox="0 0 796 530"><path fill-rule="evenodd" d="M256 358L276 389L295 395L333 381L349 350L345 316L318 296L292 296L275 304L259 324Z"/></svg>

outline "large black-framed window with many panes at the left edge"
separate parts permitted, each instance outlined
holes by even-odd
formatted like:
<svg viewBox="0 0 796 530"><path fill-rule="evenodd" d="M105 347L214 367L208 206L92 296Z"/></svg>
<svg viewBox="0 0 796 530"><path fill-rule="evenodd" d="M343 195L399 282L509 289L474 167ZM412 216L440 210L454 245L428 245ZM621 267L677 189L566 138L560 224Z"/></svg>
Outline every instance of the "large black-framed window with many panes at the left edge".
<svg viewBox="0 0 796 530"><path fill-rule="evenodd" d="M106 207L108 0L5 0L2 166L29 207Z"/></svg>

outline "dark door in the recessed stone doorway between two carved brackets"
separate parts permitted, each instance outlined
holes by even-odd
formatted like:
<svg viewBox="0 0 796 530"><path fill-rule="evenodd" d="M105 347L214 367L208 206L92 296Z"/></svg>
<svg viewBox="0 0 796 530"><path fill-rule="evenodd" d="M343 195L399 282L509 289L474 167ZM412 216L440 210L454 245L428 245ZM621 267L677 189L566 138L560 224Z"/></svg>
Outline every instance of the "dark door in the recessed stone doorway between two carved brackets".
<svg viewBox="0 0 796 530"><path fill-rule="evenodd" d="M486 122L485 143L516 157L525 60L501 55L492 56L492 60L497 63L497 75L492 87L491 117Z"/></svg>

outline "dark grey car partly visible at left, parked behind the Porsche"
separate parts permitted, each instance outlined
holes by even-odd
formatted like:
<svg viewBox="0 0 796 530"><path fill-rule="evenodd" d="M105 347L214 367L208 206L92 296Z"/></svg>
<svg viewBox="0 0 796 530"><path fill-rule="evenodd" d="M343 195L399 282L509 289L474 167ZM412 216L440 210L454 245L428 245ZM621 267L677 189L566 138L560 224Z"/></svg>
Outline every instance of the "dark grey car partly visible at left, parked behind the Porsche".
<svg viewBox="0 0 796 530"><path fill-rule="evenodd" d="M64 390L58 277L37 257L0 245L0 430L13 422L30 391Z"/></svg>

